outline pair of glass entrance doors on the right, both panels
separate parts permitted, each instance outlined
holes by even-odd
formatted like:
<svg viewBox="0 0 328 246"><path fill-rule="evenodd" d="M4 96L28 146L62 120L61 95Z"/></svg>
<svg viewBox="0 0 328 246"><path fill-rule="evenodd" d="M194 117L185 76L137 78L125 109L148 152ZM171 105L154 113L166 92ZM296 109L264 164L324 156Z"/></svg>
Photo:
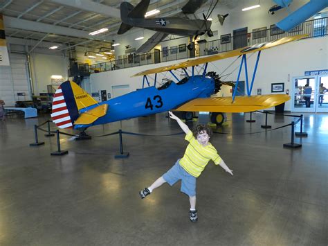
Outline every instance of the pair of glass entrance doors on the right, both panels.
<svg viewBox="0 0 328 246"><path fill-rule="evenodd" d="M328 112L328 76L293 78L292 112Z"/></svg>

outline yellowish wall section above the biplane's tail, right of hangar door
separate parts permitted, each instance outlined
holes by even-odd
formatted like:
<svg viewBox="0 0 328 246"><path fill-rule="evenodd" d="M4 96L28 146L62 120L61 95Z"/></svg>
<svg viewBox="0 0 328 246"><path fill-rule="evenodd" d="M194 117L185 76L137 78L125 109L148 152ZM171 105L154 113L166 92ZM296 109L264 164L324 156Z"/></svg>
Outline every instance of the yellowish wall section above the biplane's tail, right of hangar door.
<svg viewBox="0 0 328 246"><path fill-rule="evenodd" d="M61 75L64 80L68 78L69 60L63 55L33 53L30 60L35 95L47 92L52 75Z"/></svg>

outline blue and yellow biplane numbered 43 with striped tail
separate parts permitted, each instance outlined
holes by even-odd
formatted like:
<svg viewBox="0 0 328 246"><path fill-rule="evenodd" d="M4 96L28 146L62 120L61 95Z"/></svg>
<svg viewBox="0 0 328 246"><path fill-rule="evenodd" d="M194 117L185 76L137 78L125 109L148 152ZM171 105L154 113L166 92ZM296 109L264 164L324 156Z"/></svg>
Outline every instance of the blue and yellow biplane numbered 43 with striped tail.
<svg viewBox="0 0 328 246"><path fill-rule="evenodd" d="M143 89L112 98L98 103L81 87L72 81L63 82L55 91L51 117L58 128L74 128L84 130L93 125L100 125L114 121L122 121L127 118L147 116L168 110L183 112L252 112L266 109L289 100L284 94L250 96L255 79L259 55L262 50L301 39L307 35L295 35L293 37L282 37L272 42L265 42L253 46L247 46L234 51L228 51L211 55L205 58L188 60L168 67L159 67L136 73L134 76L143 76ZM257 52L257 61L250 85L248 83L246 54ZM215 72L207 71L208 62L242 57L239 74L232 97L211 97L216 94L222 81ZM195 67L203 65L203 71L197 75ZM245 65L247 96L235 96L239 76ZM187 68L191 71L187 71ZM174 71L181 69L185 78L179 80ZM170 72L176 80L170 80L161 87L149 85L147 76L155 74L154 85L156 85L157 73ZM148 87L145 87L147 83ZM215 118L215 117L214 117Z"/></svg>

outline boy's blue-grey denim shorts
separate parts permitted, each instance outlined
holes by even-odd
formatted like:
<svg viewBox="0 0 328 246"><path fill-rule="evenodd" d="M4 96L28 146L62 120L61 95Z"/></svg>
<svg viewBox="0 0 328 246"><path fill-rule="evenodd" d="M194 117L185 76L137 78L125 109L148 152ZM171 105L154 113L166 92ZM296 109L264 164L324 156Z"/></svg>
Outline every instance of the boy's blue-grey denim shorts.
<svg viewBox="0 0 328 246"><path fill-rule="evenodd" d="M170 186L181 179L180 191L189 196L194 196L196 195L196 177L187 173L183 167L180 166L179 160L180 159L178 159L176 164L163 175L163 179L165 179Z"/></svg>

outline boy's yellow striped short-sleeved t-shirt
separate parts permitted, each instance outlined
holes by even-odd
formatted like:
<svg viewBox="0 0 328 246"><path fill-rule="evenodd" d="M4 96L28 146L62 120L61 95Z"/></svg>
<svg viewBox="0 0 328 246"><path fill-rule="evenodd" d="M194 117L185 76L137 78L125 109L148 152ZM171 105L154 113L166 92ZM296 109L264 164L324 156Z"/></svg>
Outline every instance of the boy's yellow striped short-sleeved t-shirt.
<svg viewBox="0 0 328 246"><path fill-rule="evenodd" d="M210 159L215 162L215 165L220 164L221 157L211 143L208 143L205 147L202 146L194 138L192 131L185 135L185 140L189 141L189 144L185 149L185 155L183 155L179 163L190 175L199 177Z"/></svg>

